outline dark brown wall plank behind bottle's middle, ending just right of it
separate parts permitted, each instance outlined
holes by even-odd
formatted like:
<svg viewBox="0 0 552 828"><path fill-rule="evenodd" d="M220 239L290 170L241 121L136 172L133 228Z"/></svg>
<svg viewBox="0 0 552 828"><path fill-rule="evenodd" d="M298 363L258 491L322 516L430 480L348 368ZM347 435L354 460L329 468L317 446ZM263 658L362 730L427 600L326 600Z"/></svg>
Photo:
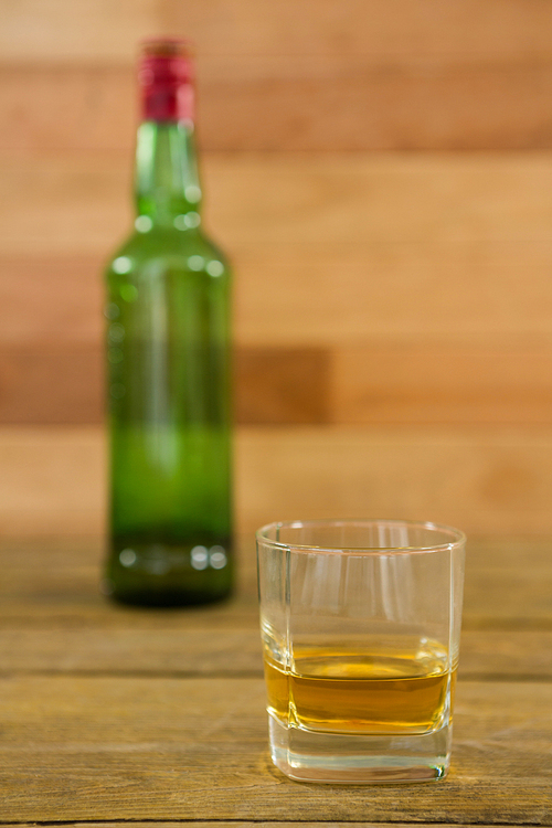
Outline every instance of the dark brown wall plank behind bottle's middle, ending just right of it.
<svg viewBox="0 0 552 828"><path fill-rule="evenodd" d="M234 369L238 423L328 422L329 354L325 349L240 348ZM100 423L104 410L99 342L82 344L68 339L0 347L0 423Z"/></svg>

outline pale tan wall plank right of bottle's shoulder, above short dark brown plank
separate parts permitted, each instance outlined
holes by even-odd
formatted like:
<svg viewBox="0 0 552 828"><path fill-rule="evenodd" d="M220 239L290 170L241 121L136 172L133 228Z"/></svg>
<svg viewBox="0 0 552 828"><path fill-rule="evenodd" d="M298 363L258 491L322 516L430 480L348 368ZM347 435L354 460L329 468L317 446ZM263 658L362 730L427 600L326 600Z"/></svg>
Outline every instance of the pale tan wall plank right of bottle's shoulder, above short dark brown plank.
<svg viewBox="0 0 552 828"><path fill-rule="evenodd" d="M551 242L252 243L234 259L247 344L552 333Z"/></svg>

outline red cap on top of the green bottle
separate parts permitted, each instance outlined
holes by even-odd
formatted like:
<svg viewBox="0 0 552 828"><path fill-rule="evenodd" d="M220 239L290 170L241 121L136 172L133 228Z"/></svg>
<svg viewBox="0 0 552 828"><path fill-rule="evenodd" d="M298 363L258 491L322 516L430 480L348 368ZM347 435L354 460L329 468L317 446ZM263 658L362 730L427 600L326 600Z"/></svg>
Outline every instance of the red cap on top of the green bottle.
<svg viewBox="0 0 552 828"><path fill-rule="evenodd" d="M193 120L193 61L187 41L170 38L145 41L138 83L144 120Z"/></svg>

